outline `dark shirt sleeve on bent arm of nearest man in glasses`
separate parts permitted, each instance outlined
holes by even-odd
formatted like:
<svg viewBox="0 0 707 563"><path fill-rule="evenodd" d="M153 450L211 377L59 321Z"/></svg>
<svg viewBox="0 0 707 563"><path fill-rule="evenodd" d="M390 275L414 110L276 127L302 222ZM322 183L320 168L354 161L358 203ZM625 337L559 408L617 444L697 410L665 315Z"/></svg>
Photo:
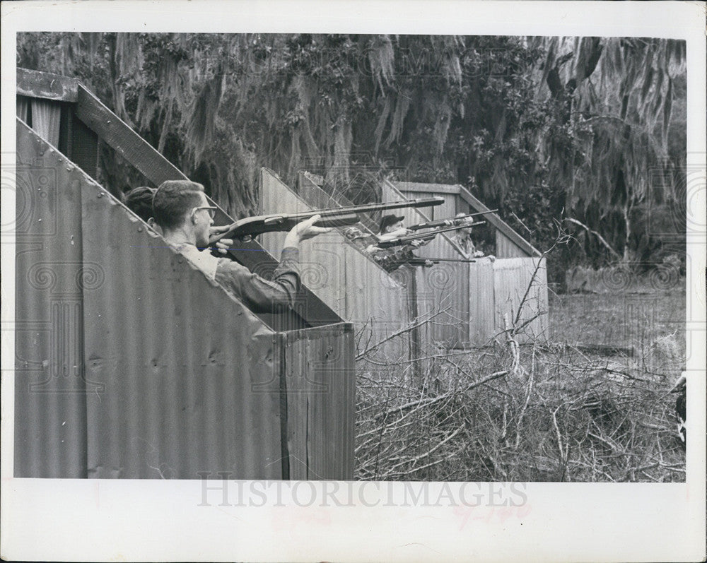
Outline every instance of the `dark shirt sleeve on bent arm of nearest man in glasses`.
<svg viewBox="0 0 707 563"><path fill-rule="evenodd" d="M256 313L275 313L293 307L301 289L299 251L283 249L280 263L267 280L227 258L218 260L216 282Z"/></svg>

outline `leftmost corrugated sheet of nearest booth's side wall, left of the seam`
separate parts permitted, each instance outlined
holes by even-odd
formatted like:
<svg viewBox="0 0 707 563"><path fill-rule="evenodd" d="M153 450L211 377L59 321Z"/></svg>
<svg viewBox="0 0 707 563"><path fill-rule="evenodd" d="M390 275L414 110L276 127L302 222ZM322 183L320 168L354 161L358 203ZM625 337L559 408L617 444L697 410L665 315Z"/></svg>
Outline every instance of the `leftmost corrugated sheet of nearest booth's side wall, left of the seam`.
<svg viewBox="0 0 707 563"><path fill-rule="evenodd" d="M86 477L82 289L100 270L81 261L74 168L18 121L15 477Z"/></svg>

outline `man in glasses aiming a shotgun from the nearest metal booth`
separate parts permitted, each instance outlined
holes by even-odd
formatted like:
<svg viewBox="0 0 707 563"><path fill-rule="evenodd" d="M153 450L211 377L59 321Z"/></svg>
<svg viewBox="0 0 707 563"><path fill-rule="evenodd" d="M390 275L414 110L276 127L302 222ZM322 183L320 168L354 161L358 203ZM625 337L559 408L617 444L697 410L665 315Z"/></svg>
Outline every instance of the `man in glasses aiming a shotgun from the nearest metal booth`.
<svg viewBox="0 0 707 563"><path fill-rule="evenodd" d="M216 211L209 205L201 184L188 180L163 182L152 206L156 223L170 245L252 311L262 313L293 306L300 291L300 242L331 230L313 226L319 215L295 225L285 237L281 260L272 280L266 280L239 263L200 250L209 244L209 230Z"/></svg>

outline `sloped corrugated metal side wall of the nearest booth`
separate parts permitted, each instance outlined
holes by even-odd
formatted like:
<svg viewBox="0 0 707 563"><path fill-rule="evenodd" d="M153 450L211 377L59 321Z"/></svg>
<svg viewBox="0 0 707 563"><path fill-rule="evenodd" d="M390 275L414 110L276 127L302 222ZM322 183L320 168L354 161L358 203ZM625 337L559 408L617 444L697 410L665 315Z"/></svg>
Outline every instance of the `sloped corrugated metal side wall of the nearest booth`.
<svg viewBox="0 0 707 563"><path fill-rule="evenodd" d="M284 336L165 247L32 131L25 128L18 137L23 134L18 148L30 154L28 174L38 178L39 169L51 179L55 169L54 184L61 191L46 190L47 203L30 208L37 225L25 227L24 249L44 251L42 237L50 238L52 256L59 260L45 264L30 256L18 268L33 289L57 298L42 301L35 292L23 308L18 297L18 328L29 330L17 348L18 368L28 370L18 371L16 384L17 473L199 478L206 472L218 478L224 471L232 478L287 477L288 450L281 439ZM52 166L41 167L37 155L49 155ZM18 210L23 210L21 198L30 201L25 193L30 188L21 189ZM47 213L37 215L42 210ZM25 211L18 213L24 221ZM69 247L75 254L64 252ZM18 249L18 263L26 258L21 254ZM30 271L37 265L50 267ZM18 288L23 281L18 279ZM47 303L54 312L49 320ZM353 355L350 336L343 335L346 325L327 328L327 350ZM341 343L332 344L337 330ZM36 352L40 357L31 355ZM31 369L44 373L21 379ZM341 370L353 379L352 369ZM33 383L54 386L45 393L47 400ZM84 388L77 389L81 383ZM334 422L340 429L353 425L353 417ZM334 426L331 420L327 425ZM308 427L315 434L319 430ZM41 473L46 468L49 473Z"/></svg>

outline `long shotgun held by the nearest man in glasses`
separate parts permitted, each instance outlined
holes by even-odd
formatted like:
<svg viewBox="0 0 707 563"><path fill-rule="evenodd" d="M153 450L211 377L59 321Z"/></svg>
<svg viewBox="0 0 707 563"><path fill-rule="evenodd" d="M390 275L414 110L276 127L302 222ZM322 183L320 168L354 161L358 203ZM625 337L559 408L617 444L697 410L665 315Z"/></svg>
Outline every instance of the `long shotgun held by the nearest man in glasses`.
<svg viewBox="0 0 707 563"><path fill-rule="evenodd" d="M409 207L433 207L444 203L444 198L421 198L409 199L406 201L392 201L390 203L367 203L363 206L339 207L332 209L320 209L306 211L305 213L280 213L274 215L258 215L257 217L247 217L240 219L230 225L230 228L223 233L209 239L209 244L214 244L226 238L246 239L264 232L287 232L300 221L307 220L314 215L322 215L322 218L315 223L315 227L342 227L344 225L354 225L358 223L358 213L369 213L370 211L388 211L391 209L402 209Z"/></svg>

